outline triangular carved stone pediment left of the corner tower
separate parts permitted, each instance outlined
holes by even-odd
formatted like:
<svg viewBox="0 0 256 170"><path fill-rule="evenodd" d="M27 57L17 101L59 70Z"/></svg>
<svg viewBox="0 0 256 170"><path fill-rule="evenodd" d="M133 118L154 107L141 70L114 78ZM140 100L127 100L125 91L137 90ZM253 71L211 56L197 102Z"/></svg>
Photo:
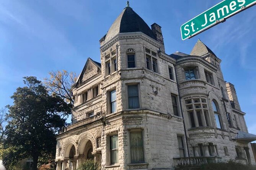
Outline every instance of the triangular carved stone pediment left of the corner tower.
<svg viewBox="0 0 256 170"><path fill-rule="evenodd" d="M79 87L89 80L91 80L96 75L101 74L101 66L99 63L93 61L91 58L88 58L85 66L83 67L83 71L78 77L76 87Z"/></svg>

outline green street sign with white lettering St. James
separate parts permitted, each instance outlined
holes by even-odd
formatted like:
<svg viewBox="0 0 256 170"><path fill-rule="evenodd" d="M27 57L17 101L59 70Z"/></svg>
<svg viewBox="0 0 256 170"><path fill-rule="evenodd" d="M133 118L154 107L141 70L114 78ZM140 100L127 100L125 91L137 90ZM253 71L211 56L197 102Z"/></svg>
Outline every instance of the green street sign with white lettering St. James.
<svg viewBox="0 0 256 170"><path fill-rule="evenodd" d="M225 19L256 4L256 0L223 0L181 26L181 38L186 40Z"/></svg>

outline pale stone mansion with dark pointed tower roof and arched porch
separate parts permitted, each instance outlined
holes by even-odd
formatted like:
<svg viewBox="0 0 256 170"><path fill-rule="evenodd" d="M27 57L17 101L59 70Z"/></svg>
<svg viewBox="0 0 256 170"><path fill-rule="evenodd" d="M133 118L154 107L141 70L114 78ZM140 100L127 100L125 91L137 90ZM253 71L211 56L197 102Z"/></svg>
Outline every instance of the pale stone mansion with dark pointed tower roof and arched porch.
<svg viewBox="0 0 256 170"><path fill-rule="evenodd" d="M174 169L230 159L255 164L245 112L201 40L165 53L161 27L127 2L72 86L72 124L57 135L56 170L94 159L102 170Z"/></svg>

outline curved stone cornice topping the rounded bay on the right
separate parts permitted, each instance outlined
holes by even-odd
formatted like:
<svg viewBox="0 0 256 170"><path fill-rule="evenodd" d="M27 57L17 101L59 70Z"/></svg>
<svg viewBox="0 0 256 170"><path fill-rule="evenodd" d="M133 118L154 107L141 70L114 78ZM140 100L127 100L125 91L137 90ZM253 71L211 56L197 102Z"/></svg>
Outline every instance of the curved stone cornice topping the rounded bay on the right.
<svg viewBox="0 0 256 170"><path fill-rule="evenodd" d="M212 69L212 71L217 72L218 68L215 67L214 65L210 64L208 61L206 61L205 59L199 57L199 56L186 56L186 57L182 57L180 59L177 60L177 65L181 64L181 63L186 63L189 61L197 61L201 64L204 64L205 66L209 67L210 69Z"/></svg>

